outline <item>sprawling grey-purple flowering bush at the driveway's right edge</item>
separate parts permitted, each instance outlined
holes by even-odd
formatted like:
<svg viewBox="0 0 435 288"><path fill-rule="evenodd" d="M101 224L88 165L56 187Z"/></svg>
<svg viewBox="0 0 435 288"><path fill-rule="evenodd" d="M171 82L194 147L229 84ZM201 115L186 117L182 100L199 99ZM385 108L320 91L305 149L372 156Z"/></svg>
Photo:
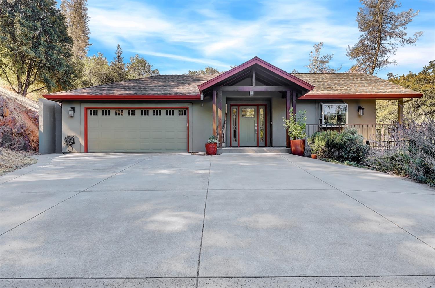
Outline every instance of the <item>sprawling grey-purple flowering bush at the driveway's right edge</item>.
<svg viewBox="0 0 435 288"><path fill-rule="evenodd" d="M388 138L369 150L365 164L435 186L435 120L398 125Z"/></svg>

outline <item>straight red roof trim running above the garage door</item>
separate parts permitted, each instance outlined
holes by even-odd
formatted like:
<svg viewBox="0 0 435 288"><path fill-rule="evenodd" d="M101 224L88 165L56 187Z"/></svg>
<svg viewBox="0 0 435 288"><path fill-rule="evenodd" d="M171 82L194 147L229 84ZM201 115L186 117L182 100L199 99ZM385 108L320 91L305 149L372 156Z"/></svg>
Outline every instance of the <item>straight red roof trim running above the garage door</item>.
<svg viewBox="0 0 435 288"><path fill-rule="evenodd" d="M49 100L199 100L201 95L43 95Z"/></svg>

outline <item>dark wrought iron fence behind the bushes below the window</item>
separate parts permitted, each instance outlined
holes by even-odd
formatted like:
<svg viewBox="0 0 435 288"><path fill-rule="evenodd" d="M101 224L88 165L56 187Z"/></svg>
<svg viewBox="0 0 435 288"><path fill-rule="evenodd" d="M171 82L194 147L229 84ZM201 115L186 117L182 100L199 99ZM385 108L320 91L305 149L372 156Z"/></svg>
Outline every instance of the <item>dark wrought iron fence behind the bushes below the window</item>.
<svg viewBox="0 0 435 288"><path fill-rule="evenodd" d="M361 134L367 145L371 149L381 149L382 147L397 145L395 134L401 129L419 129L425 124L348 124L348 125L318 125L307 124L305 132L307 133L306 139L311 137L315 132L336 130L342 132L344 129L355 128ZM408 141L403 139L402 141ZM305 141L305 147L309 147L308 141Z"/></svg>

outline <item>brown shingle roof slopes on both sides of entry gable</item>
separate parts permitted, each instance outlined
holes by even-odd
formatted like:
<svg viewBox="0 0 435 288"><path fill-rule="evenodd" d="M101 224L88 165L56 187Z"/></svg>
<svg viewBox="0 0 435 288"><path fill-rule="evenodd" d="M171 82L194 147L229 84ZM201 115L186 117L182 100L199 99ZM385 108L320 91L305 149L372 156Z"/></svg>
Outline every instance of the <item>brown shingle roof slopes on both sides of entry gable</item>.
<svg viewBox="0 0 435 288"><path fill-rule="evenodd" d="M50 95L199 95L198 85L220 75L157 75L147 78L67 90ZM291 73L315 86L305 94L416 94L411 89L366 73Z"/></svg>

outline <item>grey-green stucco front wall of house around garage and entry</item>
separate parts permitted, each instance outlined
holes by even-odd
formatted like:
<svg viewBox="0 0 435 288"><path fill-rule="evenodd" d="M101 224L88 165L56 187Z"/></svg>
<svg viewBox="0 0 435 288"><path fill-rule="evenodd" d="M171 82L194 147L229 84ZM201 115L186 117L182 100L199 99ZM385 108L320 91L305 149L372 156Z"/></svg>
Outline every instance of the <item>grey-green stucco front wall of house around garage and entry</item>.
<svg viewBox="0 0 435 288"><path fill-rule="evenodd" d="M227 101L228 100L228 101ZM46 100L48 101L48 100ZM278 92L256 92L254 96L249 96L248 92L223 92L222 93L222 124L227 114L227 129L225 145L230 145L231 125L230 125L230 104L231 103L267 103L268 105L268 146L285 146L285 129L282 126L282 118L285 117L285 99ZM51 102L51 101L49 101ZM320 103L327 100L297 100L296 109L307 110L307 124L319 124ZM375 100L374 99L348 99L335 100L331 102L348 103L348 123L349 124L373 124L375 123ZM54 102L51 102L54 103ZM56 104L56 103L55 103ZM226 106L228 104L228 112ZM58 104L56 104L58 105ZM189 151L205 151L204 144L212 135L212 99L206 97L204 101L194 100L189 103L174 103L174 101L147 102L147 103L80 103L74 101L64 101L62 105L62 133L61 139L65 136L75 136L75 144L72 145L72 152L84 152L84 107L85 106L189 106ZM358 116L358 106L364 106L365 115ZM68 109L75 108L74 117L68 116ZM216 115L218 117L218 115ZM272 125L270 124L272 122ZM218 123L218 119L216 119ZM271 136L271 137L270 137ZM272 143L270 142L272 139ZM61 140L60 140L61 141ZM67 147L63 147L64 152Z"/></svg>

